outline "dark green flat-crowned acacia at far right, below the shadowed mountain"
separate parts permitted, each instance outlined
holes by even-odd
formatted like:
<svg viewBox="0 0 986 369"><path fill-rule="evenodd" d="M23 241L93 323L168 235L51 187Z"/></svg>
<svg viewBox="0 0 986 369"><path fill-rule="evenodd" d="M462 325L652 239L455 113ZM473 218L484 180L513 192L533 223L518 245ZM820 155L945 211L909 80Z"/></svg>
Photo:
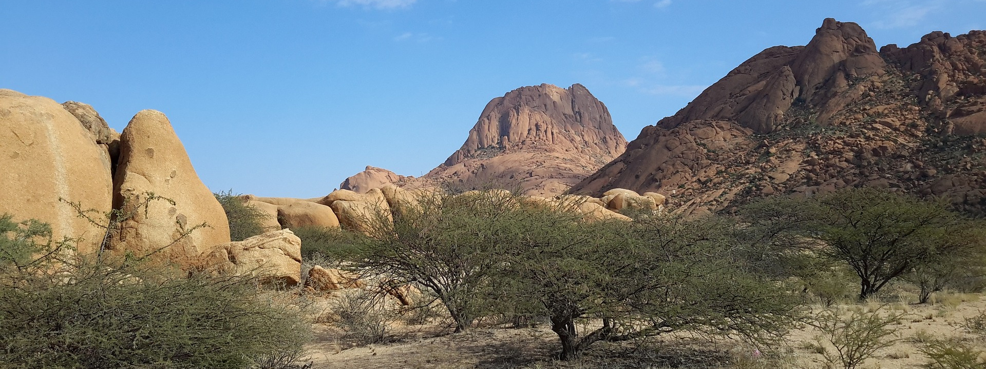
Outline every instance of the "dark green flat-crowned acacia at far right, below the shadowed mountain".
<svg viewBox="0 0 986 369"><path fill-rule="evenodd" d="M773 200L770 205L747 208L744 215L754 221L777 213L804 219L781 223L771 236L786 240L789 247L845 263L860 278L861 300L945 256L983 247L980 226L949 211L947 204L879 189L846 189L807 200Z"/></svg>

